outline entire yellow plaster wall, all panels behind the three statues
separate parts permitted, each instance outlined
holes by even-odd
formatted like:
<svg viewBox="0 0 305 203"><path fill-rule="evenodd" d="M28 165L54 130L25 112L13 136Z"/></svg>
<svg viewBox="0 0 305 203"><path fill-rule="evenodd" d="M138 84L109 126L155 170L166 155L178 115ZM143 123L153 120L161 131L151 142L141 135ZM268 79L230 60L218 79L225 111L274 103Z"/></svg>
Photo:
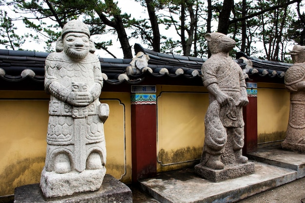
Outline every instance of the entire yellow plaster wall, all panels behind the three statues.
<svg viewBox="0 0 305 203"><path fill-rule="evenodd" d="M283 84L258 83L258 145L285 138L289 92ZM204 145L207 89L156 85L157 172L193 166ZM102 92L110 106L104 130L107 173L132 180L131 93ZM0 91L0 196L20 185L38 183L44 166L49 95L44 91Z"/></svg>

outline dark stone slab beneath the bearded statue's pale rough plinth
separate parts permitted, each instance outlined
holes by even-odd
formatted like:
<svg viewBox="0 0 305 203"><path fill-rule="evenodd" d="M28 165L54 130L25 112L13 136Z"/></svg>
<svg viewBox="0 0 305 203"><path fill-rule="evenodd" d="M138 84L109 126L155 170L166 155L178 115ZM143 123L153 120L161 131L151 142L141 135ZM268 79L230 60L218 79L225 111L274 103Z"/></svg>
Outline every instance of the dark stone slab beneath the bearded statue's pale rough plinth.
<svg viewBox="0 0 305 203"><path fill-rule="evenodd" d="M133 195L128 186L106 174L99 190L77 193L72 196L44 198L39 184L15 188L14 203L132 203Z"/></svg>

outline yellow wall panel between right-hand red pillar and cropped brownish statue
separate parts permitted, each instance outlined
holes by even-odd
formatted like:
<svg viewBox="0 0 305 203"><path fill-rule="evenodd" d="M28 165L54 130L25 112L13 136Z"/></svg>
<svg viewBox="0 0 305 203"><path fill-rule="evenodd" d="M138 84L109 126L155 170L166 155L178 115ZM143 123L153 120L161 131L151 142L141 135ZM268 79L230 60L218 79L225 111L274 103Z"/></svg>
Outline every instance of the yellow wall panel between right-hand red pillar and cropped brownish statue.
<svg viewBox="0 0 305 203"><path fill-rule="evenodd" d="M258 83L258 145L265 146L285 139L289 117L290 94L283 84ZM279 143L278 143L279 144Z"/></svg>

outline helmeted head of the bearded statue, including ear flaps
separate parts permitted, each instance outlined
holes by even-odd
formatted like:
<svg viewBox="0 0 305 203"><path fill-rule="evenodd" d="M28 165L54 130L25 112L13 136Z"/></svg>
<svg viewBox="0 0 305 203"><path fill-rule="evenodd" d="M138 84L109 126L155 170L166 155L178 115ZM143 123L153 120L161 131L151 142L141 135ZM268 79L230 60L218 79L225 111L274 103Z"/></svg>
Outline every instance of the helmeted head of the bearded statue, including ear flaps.
<svg viewBox="0 0 305 203"><path fill-rule="evenodd" d="M76 19L67 22L62 28L61 36L57 39L56 51L64 51L72 60L81 60L89 52L94 53L95 45L90 39L88 26Z"/></svg>

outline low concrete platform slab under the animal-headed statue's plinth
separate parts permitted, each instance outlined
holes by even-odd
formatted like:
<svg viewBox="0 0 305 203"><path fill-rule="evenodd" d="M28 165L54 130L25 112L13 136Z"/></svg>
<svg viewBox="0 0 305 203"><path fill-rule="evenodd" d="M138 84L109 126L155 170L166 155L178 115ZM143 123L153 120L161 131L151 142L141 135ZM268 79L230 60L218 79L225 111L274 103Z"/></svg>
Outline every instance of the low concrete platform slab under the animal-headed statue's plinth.
<svg viewBox="0 0 305 203"><path fill-rule="evenodd" d="M296 180L295 170L253 162L255 173L219 183L185 168L159 173L140 185L160 203L233 203Z"/></svg>

